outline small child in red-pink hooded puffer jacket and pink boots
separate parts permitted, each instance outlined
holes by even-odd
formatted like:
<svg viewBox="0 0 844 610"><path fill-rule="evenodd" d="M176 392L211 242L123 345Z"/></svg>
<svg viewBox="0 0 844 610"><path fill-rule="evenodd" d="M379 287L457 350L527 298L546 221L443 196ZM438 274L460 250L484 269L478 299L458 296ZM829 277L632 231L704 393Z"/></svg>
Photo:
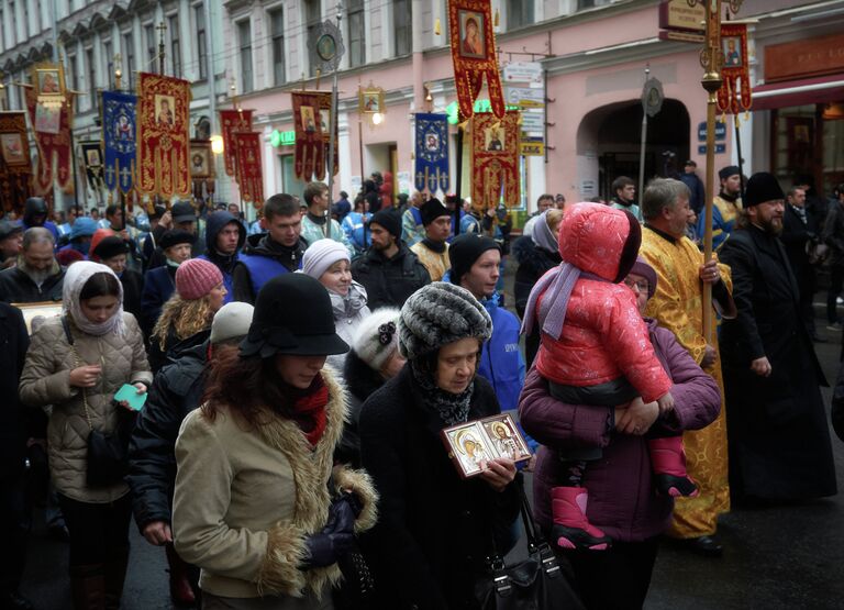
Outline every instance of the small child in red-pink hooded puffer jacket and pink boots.
<svg viewBox="0 0 844 610"><path fill-rule="evenodd" d="M656 401L660 415L674 409L671 380L651 345L635 296L619 284L636 262L641 242L638 221L626 211L598 203L566 210L559 228L563 263L531 291L522 326L531 332L534 323L541 324L535 366L554 398L614 408L641 396L645 403ZM648 446L658 491L696 496L681 435L649 437ZM567 477L552 489L552 534L565 548L604 550L611 544L586 518L584 473L587 462L600 456L600 448L560 455Z"/></svg>

